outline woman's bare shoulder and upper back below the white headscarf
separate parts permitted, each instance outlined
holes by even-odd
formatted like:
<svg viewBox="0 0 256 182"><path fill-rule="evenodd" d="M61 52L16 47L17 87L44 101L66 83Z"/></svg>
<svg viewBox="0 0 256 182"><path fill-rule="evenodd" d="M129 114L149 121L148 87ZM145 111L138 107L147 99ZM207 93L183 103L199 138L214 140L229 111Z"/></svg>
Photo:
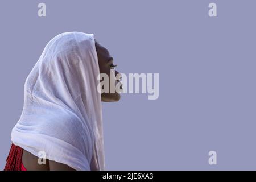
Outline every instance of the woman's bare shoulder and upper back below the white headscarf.
<svg viewBox="0 0 256 182"><path fill-rule="evenodd" d="M46 164L38 163L38 156L23 150L22 163L28 171L74 171L75 169L66 164L46 159Z"/></svg>

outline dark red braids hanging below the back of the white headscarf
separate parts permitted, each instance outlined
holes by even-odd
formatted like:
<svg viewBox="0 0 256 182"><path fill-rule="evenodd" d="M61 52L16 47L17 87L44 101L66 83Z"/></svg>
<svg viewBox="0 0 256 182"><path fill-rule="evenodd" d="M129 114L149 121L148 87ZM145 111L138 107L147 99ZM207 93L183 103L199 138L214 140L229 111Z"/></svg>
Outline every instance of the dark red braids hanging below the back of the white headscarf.
<svg viewBox="0 0 256 182"><path fill-rule="evenodd" d="M22 164L23 148L11 144L4 171L27 171Z"/></svg>

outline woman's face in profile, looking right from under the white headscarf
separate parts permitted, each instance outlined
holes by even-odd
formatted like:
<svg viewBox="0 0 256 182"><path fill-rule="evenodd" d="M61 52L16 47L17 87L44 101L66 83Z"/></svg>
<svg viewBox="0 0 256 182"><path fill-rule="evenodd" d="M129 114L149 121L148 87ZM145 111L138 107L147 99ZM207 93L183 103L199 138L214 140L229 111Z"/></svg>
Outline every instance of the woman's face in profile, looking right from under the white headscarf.
<svg viewBox="0 0 256 182"><path fill-rule="evenodd" d="M114 89L115 93L110 93L110 79L113 79L113 82L115 83L114 86L117 85L117 83L119 82L119 80L115 80L115 76L117 76L119 72L113 69L117 65L114 65L113 57L110 56L108 49L106 49L96 40L95 40L95 46L96 46L96 51L98 55L98 65L100 67L100 73L106 73L106 75L108 75L109 77L109 92L101 94L101 101L104 101L104 102L119 101L120 94L117 93L115 89ZM111 74L113 75L112 77L110 77ZM102 89L104 89L104 86L102 87Z"/></svg>

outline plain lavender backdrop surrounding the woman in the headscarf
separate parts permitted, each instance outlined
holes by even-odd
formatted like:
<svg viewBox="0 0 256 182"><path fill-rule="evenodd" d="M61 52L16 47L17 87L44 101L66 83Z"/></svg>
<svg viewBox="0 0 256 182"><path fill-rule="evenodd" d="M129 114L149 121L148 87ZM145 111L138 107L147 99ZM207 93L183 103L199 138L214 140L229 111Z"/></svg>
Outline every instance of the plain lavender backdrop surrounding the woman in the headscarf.
<svg viewBox="0 0 256 182"><path fill-rule="evenodd" d="M47 6L39 18L38 3ZM210 2L217 17L208 16ZM106 169L256 169L256 1L1 1L0 169L24 81L53 36L93 33L118 71L159 73L159 98L102 103ZM217 152L217 165L208 152Z"/></svg>

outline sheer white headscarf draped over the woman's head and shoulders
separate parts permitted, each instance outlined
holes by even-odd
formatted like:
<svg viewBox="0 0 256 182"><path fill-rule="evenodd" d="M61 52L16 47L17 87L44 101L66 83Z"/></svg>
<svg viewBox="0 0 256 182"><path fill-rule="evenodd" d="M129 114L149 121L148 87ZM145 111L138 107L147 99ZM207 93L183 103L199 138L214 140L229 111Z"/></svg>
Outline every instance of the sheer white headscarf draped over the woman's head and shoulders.
<svg viewBox="0 0 256 182"><path fill-rule="evenodd" d="M26 79L12 142L76 170L105 170L99 74L93 34L55 36Z"/></svg>

